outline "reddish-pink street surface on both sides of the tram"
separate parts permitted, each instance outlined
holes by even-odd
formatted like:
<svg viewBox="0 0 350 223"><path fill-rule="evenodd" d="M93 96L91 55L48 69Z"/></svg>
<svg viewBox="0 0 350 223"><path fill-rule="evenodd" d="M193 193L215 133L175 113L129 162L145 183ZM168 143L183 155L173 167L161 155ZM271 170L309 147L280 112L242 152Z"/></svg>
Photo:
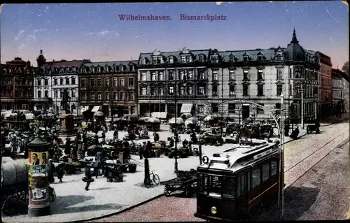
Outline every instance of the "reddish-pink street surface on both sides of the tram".
<svg viewBox="0 0 350 223"><path fill-rule="evenodd" d="M328 152L329 148L324 145L329 145L328 142L332 138L347 131L347 136L345 134L341 142L333 146L334 150L325 157L319 157L317 152L311 155L310 158L318 159L313 162L319 162L311 166L306 173L298 173L297 180L289 187L287 185L284 194L284 220L349 219L349 216L346 217L346 213L350 210L349 121L333 124L321 130L321 134L303 136L285 146L286 154L289 155L286 157L286 165L289 165L286 170L295 165L304 168L303 162L309 161L304 157L319 148L321 150L318 151ZM305 154L301 153L302 156L294 157L293 154L300 153L300 150ZM193 216L195 210L195 198L183 198L181 194L177 194L171 197L162 196L125 213L91 222L204 221ZM252 220L277 220L276 210L276 206L262 207L253 215Z"/></svg>

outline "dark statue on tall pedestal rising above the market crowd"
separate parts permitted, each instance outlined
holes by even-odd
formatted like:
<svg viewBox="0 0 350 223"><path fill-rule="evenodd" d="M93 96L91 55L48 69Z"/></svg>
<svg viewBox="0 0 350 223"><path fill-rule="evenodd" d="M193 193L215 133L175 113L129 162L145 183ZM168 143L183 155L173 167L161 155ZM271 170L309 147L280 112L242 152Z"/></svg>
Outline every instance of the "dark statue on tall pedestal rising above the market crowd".
<svg viewBox="0 0 350 223"><path fill-rule="evenodd" d="M59 114L59 136L69 137L75 136L76 129L73 123L73 115L71 115L67 105L69 102L69 95L66 89L63 92L63 98L61 102L62 110Z"/></svg>

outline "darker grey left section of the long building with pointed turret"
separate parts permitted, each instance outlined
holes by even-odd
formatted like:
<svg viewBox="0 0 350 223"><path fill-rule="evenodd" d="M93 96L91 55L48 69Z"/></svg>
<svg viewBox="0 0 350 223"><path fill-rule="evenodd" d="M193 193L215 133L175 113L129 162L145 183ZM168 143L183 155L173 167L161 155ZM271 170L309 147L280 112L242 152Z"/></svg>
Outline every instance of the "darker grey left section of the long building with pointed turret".
<svg viewBox="0 0 350 223"><path fill-rule="evenodd" d="M208 99L210 50L141 52L138 62L139 113L197 113ZM177 100L177 101L175 101Z"/></svg>

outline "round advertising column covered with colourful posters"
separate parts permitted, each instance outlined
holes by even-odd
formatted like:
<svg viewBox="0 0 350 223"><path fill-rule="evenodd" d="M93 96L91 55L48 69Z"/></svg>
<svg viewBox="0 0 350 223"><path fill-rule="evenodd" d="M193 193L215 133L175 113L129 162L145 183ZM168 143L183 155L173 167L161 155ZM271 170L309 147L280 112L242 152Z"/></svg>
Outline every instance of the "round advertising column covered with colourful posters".
<svg viewBox="0 0 350 223"><path fill-rule="evenodd" d="M48 190L48 148L50 144L37 136L28 143L29 216L50 215Z"/></svg>

